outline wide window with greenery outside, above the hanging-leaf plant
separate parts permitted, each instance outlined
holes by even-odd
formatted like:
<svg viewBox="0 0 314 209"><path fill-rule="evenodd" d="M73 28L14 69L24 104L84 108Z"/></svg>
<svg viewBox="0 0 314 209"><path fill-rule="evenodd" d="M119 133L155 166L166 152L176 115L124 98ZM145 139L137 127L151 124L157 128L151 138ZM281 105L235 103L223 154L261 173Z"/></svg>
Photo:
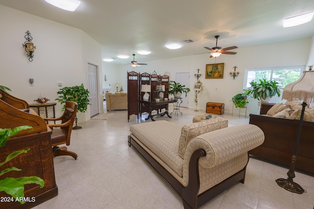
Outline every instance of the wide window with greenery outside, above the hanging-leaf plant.
<svg viewBox="0 0 314 209"><path fill-rule="evenodd" d="M304 69L305 66L245 69L243 88L249 88L251 81L259 81L259 79L275 80L285 88L287 84L298 80Z"/></svg>

